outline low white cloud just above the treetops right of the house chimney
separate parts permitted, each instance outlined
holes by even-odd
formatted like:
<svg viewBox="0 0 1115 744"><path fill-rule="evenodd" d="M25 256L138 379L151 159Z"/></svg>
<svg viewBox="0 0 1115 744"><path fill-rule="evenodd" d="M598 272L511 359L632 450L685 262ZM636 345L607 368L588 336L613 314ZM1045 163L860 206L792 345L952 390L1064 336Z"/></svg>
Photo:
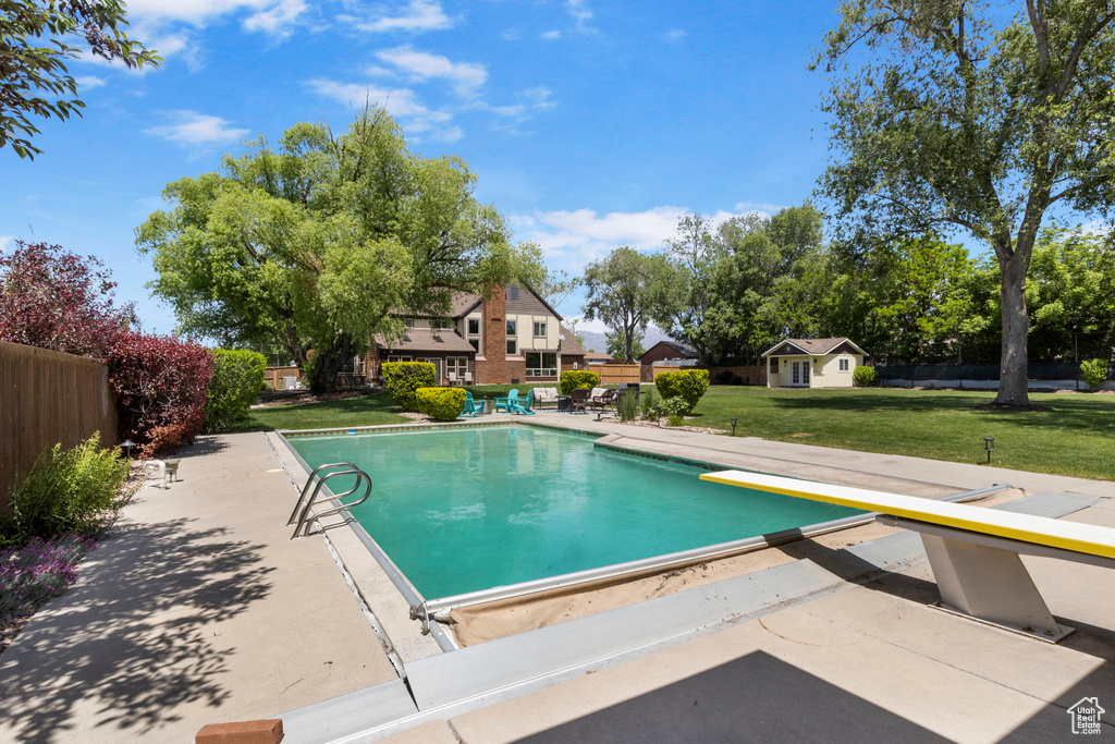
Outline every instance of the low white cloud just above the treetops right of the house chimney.
<svg viewBox="0 0 1115 744"><path fill-rule="evenodd" d="M643 251L662 248L675 235L678 220L691 213L691 210L671 205L608 214L581 209L515 214L511 216L511 224L516 240L534 241L549 260L575 273L589 261L619 245ZM745 213L720 210L706 216L719 223Z"/></svg>

